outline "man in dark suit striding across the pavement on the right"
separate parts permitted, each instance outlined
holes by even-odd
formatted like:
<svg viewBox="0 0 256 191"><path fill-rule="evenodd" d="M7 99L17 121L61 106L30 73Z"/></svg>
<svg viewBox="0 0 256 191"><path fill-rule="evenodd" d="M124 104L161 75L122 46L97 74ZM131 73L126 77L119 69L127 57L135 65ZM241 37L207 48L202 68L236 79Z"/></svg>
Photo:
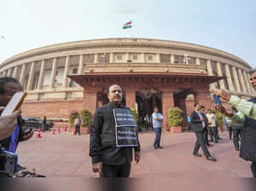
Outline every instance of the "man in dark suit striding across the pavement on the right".
<svg viewBox="0 0 256 191"><path fill-rule="evenodd" d="M198 153L199 148L203 150L206 158L208 160L217 161L217 159L213 158L209 153L206 145L206 141L204 139L204 128L206 128L205 118L202 117L200 113L200 105L199 103L195 103L195 110L190 114L191 120L191 129L195 131L196 142L193 154L197 157L201 157L201 154Z"/></svg>

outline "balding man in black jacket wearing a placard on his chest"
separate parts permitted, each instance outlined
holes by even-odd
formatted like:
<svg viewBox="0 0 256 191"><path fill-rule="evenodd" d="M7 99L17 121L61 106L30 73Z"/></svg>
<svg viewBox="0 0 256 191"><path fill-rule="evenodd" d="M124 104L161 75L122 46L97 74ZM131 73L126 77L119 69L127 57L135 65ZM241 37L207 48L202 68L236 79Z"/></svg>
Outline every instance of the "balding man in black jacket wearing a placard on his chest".
<svg viewBox="0 0 256 191"><path fill-rule="evenodd" d="M122 90L117 84L109 87L108 99L108 104L96 109L90 127L92 171L100 172L101 177L130 177L132 151L134 150L134 159L138 163L141 157L140 144L137 139L137 147L131 144L118 146L118 139L123 136L117 136L119 130L113 113L117 109L130 111L130 108L121 103Z"/></svg>

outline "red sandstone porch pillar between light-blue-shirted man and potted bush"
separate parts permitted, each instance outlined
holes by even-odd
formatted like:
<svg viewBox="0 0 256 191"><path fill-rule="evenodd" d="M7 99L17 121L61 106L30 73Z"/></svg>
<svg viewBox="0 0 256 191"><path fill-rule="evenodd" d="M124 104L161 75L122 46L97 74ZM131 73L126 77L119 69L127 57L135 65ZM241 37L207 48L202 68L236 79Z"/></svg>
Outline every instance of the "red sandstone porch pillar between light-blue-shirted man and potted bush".
<svg viewBox="0 0 256 191"><path fill-rule="evenodd" d="M163 128L168 128L168 110L174 108L173 93L170 90L164 90L162 94L162 113L164 116Z"/></svg>

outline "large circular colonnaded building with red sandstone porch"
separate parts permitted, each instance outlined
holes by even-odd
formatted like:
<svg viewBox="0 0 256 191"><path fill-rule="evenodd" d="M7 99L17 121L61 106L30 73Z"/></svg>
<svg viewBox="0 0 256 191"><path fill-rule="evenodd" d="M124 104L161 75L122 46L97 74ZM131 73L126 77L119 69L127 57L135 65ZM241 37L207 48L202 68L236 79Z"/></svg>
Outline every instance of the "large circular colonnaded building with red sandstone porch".
<svg viewBox="0 0 256 191"><path fill-rule="evenodd" d="M236 55L193 43L107 38L14 55L3 61L0 76L19 79L27 91L26 117L67 119L84 108L93 114L108 103L108 87L119 84L127 107L137 108L140 116L159 107L167 119L173 107L189 115L195 101L212 108L215 87L246 99L255 95L251 68Z"/></svg>

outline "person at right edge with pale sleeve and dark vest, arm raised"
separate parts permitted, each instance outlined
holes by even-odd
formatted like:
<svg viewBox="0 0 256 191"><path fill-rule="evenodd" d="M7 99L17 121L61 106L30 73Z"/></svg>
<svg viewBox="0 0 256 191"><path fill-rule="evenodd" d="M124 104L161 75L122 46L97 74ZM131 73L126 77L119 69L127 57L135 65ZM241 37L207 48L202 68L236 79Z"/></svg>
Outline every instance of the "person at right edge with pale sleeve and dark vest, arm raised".
<svg viewBox="0 0 256 191"><path fill-rule="evenodd" d="M256 90L256 70L251 71L250 75L250 83ZM252 161L251 170L253 177L256 177L256 97L245 101L237 96L230 96L225 90L215 90L214 93L238 110L238 113L230 113L223 106L218 106L218 111L243 124L240 157Z"/></svg>

